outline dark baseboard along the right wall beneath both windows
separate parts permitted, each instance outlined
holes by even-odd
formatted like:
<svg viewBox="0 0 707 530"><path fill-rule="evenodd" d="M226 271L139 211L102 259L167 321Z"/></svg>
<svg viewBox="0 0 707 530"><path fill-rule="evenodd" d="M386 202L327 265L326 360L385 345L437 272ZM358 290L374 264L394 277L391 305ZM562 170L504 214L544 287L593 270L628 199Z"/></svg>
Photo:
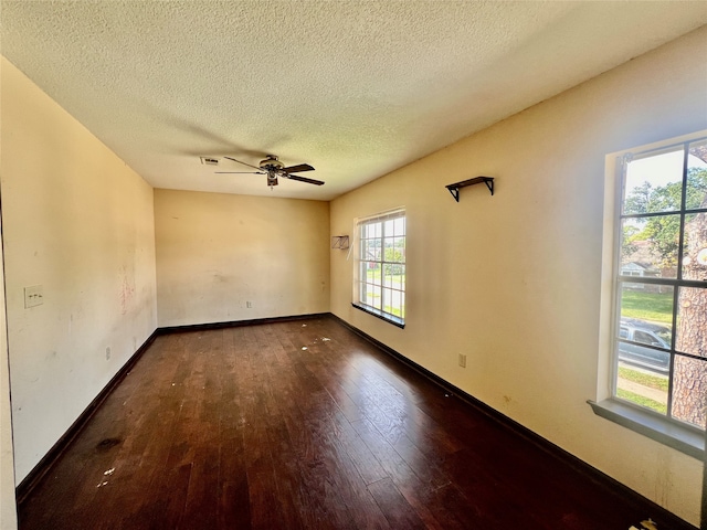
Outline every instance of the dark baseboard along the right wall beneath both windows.
<svg viewBox="0 0 707 530"><path fill-rule="evenodd" d="M339 324L341 324L341 326L351 330L354 333L358 335L362 339L376 346L377 348L382 350L384 353L389 354L390 357L408 365L415 372L420 373L424 378L429 379L431 382L440 386L445 393L456 396L457 399L467 403L469 406L473 406L474 409L482 412L486 416L496 421L498 424L500 424L505 428L513 431L514 434L532 443L536 447L540 448L545 453L550 454L551 456L560 460L562 464L570 466L572 469L589 477L590 480L602 485L606 489L611 490L614 495L621 497L624 500L627 500L637 509L644 509L646 511L646 518L651 517L655 522L658 523L657 528L669 528L671 530L697 530L696 527L693 527L690 523L688 523L684 519L680 519L675 513L666 510L662 506L642 496L637 491L631 489L629 486L610 477L605 473L597 469L595 467L585 463L581 458L578 458L571 453L568 453L567 451L553 444L549 439L544 438L535 431L529 430L523 424L498 412L496 409L493 409L492 406L487 405L486 403L478 400L477 398L474 398L472 394L468 394L467 392L460 389L458 386L455 386L449 381L440 378L439 375L431 372L426 368L418 364L416 362L412 361L411 359L407 358L402 353L395 351L394 349L390 348L389 346L384 344L378 339L374 339L373 337L360 330L356 326L350 325L342 318L334 314L330 314L330 315L331 315L331 318L334 318Z"/></svg>

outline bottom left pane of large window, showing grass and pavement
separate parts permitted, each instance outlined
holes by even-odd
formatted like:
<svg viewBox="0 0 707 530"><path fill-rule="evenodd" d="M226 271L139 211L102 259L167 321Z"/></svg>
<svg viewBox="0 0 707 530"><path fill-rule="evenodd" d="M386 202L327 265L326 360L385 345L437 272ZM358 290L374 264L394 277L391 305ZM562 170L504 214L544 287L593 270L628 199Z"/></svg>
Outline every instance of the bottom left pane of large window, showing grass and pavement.
<svg viewBox="0 0 707 530"><path fill-rule="evenodd" d="M667 413L667 374L619 360L616 396L661 414Z"/></svg>

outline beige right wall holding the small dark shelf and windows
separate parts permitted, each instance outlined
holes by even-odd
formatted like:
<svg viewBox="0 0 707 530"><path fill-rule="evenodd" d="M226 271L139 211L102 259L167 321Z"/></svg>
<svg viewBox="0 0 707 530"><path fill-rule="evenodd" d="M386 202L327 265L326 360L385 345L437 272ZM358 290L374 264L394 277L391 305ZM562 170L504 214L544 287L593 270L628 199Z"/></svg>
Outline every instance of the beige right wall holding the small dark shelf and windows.
<svg viewBox="0 0 707 530"><path fill-rule="evenodd" d="M331 203L331 234L408 210L405 329L351 308L344 254L331 255L334 314L694 524L700 462L585 402L608 393L604 158L707 127L706 51L701 29ZM479 184L457 204L444 188L482 174L494 197Z"/></svg>

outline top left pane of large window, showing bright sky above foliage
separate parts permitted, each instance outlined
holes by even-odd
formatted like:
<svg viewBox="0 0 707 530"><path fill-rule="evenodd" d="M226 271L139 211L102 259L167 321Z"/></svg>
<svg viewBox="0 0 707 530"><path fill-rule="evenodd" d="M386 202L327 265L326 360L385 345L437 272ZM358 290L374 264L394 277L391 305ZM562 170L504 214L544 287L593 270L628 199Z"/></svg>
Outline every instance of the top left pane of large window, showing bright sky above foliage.
<svg viewBox="0 0 707 530"><path fill-rule="evenodd" d="M663 151L629 162L623 213L669 212L682 204L684 151Z"/></svg>

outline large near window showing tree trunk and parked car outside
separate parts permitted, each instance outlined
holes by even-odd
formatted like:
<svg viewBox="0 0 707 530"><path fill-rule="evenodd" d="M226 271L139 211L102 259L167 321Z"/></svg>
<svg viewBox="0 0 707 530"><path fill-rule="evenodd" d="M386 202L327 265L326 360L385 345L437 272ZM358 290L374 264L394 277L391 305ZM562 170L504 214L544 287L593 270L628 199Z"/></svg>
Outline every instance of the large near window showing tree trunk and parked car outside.
<svg viewBox="0 0 707 530"><path fill-rule="evenodd" d="M614 399L704 430L707 138L621 166Z"/></svg>

